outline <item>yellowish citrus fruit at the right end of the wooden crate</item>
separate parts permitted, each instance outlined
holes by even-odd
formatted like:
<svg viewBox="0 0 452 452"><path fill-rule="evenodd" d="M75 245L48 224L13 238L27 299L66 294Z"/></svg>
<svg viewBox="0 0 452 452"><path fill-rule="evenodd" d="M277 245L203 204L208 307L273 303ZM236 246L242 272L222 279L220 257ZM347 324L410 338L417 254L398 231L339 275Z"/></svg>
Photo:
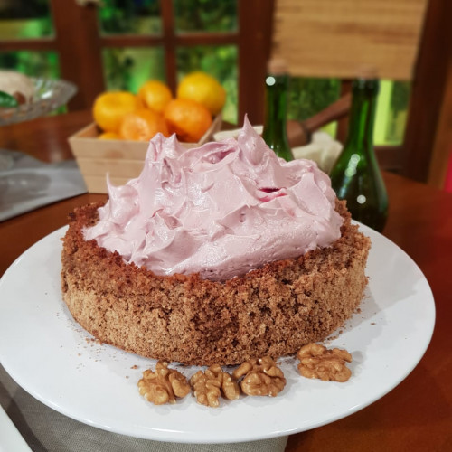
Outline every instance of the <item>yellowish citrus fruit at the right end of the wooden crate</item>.
<svg viewBox="0 0 452 452"><path fill-rule="evenodd" d="M192 99L207 108L212 116L218 115L226 101L226 91L212 75L202 71L184 77L177 87L179 99Z"/></svg>

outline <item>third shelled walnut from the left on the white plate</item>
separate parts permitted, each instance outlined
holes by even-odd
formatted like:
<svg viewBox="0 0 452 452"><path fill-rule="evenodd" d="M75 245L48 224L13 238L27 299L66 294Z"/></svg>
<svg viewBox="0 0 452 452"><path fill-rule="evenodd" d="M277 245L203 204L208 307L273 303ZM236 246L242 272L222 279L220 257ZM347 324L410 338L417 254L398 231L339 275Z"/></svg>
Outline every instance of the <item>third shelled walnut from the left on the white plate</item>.
<svg viewBox="0 0 452 452"><path fill-rule="evenodd" d="M275 397L286 386L284 373L269 356L242 363L232 376L240 380L241 391L250 396Z"/></svg>

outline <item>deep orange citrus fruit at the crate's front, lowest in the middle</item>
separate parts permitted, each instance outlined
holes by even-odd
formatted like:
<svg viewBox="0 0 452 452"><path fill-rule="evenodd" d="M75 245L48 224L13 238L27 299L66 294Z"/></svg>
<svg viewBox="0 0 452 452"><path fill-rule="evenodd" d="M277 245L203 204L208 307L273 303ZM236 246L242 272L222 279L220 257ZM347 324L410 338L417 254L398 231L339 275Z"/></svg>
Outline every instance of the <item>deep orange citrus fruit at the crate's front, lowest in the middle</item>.
<svg viewBox="0 0 452 452"><path fill-rule="evenodd" d="M169 137L164 117L148 108L128 113L119 127L119 136L127 140L149 141L159 132Z"/></svg>

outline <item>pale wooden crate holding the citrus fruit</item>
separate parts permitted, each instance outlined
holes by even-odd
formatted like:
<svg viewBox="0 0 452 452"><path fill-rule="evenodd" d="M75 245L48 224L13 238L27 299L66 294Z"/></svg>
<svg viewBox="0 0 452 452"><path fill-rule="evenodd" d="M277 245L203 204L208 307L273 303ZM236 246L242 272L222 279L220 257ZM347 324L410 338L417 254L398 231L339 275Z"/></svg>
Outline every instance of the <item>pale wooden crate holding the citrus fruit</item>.
<svg viewBox="0 0 452 452"><path fill-rule="evenodd" d="M198 143L182 143L187 148L202 146L221 129L221 114ZM145 141L98 139L96 125L82 128L69 137L72 154L77 160L89 193L108 193L107 174L112 184L124 185L143 169L148 143Z"/></svg>

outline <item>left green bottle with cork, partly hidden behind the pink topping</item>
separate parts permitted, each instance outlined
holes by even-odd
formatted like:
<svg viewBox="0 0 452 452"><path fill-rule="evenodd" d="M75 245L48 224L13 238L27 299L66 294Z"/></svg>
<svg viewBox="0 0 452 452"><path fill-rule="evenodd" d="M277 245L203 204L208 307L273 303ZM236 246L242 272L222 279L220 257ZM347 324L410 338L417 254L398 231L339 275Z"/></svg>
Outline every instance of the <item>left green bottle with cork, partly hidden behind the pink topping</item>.
<svg viewBox="0 0 452 452"><path fill-rule="evenodd" d="M288 75L284 61L270 61L265 80L265 119L262 137L276 155L288 162L294 159L294 155L287 139L287 89Z"/></svg>

